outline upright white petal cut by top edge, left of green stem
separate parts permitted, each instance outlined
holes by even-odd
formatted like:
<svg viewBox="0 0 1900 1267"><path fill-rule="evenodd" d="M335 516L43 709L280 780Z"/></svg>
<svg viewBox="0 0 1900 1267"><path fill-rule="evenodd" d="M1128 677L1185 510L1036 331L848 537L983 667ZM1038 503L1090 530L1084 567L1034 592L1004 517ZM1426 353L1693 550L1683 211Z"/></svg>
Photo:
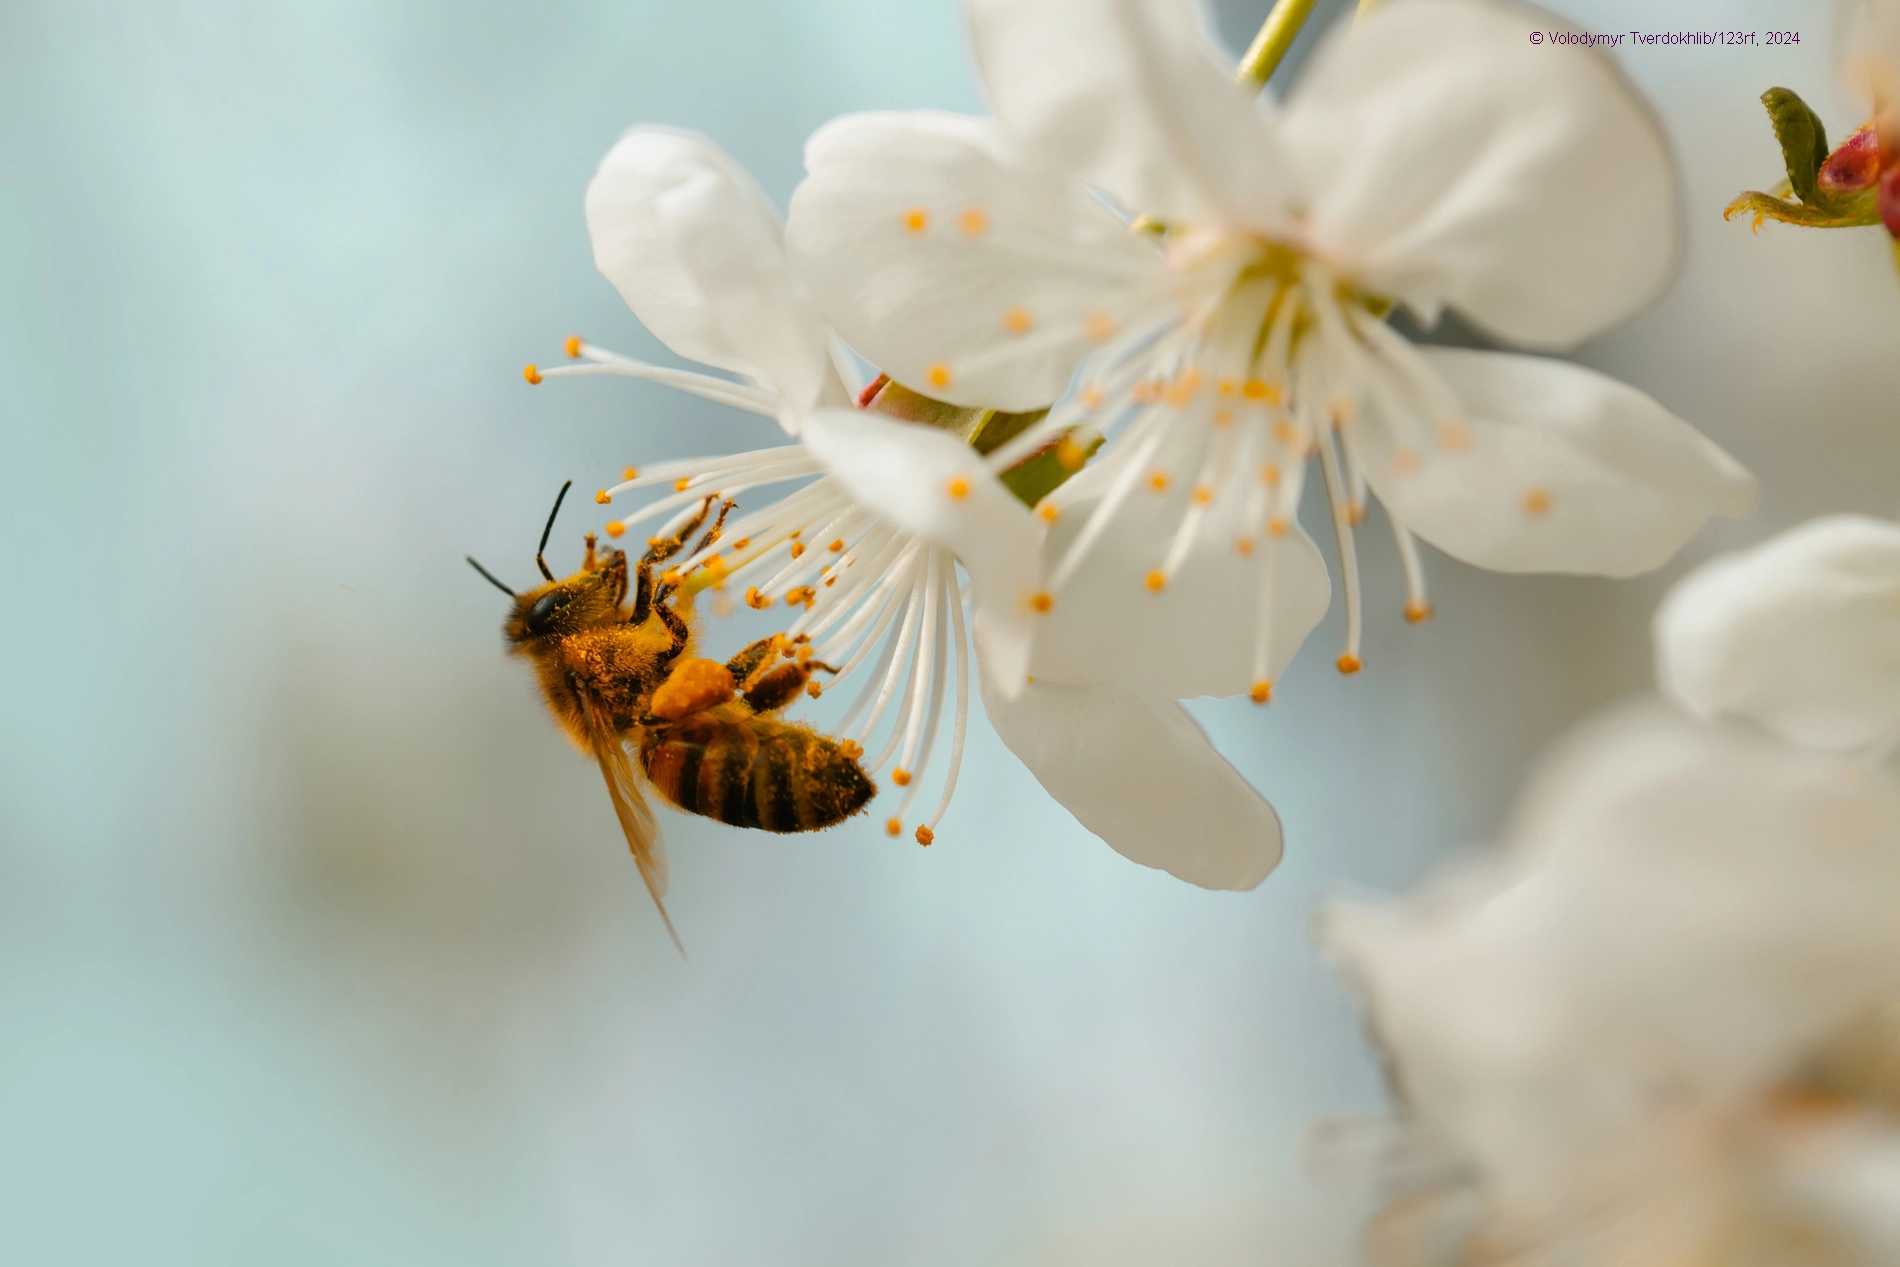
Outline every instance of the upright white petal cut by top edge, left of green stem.
<svg viewBox="0 0 1900 1267"><path fill-rule="evenodd" d="M1279 139L1197 0L971 0L977 63L1011 137L1168 220L1281 228Z"/></svg>

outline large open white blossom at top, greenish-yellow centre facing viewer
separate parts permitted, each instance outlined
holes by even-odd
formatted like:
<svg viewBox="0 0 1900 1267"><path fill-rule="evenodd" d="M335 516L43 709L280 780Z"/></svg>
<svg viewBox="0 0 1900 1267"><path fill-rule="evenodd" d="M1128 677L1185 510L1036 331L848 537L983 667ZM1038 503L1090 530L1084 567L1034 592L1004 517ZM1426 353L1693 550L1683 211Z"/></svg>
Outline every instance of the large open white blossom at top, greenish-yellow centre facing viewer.
<svg viewBox="0 0 1900 1267"><path fill-rule="evenodd" d="M1752 477L1640 391L1560 361L1414 348L1383 321L1393 302L1423 321L1455 308L1562 348L1655 296L1674 171L1609 63L1533 47L1493 4L1410 0L1328 46L1275 110L1222 70L1189 0L969 11L999 118L832 122L787 241L838 331L899 382L1015 410L1064 397L998 467L1058 443L1079 460L1110 435L1045 503L1056 610L1108 566L1096 589L1115 600L1091 596L1087 619L1148 602L1174 629L1218 625L1193 693L1265 699L1281 638L1305 633L1273 604L1326 602L1296 522L1315 452L1343 671L1358 667L1351 526L1368 488L1412 619L1429 614L1412 532L1486 568L1626 576L1708 515L1750 509ZM1142 215L1125 224L1091 186ZM1216 617L1208 591L1235 587L1239 619Z"/></svg>

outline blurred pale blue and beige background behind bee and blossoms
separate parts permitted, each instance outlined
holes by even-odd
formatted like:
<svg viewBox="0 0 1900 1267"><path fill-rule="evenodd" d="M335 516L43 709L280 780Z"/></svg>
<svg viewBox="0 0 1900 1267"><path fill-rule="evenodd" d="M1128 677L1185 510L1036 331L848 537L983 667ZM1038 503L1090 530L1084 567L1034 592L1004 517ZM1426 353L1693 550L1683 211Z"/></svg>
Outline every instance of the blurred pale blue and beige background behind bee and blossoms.
<svg viewBox="0 0 1900 1267"><path fill-rule="evenodd" d="M667 359L591 266L616 135L705 131L783 207L826 118L980 108L954 0L0 6L0 1259L1340 1252L1302 1142L1383 1090L1315 906L1484 838L1645 688L1682 566L1900 511L1885 239L1720 217L1780 175L1761 89L1862 122L1826 6L1558 8L1801 32L1623 55L1687 255L1579 353L1754 467L1756 519L1621 585L1434 555L1421 629L1368 532L1366 672L1336 614L1269 710L1195 705L1286 823L1254 893L1125 862L978 724L929 851L667 817L682 963L462 555L526 577L562 479L773 437L522 384L572 331Z"/></svg>

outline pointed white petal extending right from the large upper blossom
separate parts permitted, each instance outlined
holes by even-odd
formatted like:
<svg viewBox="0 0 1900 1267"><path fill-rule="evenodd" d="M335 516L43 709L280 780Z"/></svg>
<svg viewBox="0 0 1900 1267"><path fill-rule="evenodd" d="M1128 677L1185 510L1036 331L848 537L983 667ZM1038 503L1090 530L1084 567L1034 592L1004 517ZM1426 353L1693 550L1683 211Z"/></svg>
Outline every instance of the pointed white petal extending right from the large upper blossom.
<svg viewBox="0 0 1900 1267"><path fill-rule="evenodd" d="M1754 509L1754 477L1634 388L1543 357L1421 351L1465 407L1469 446L1408 439L1372 416L1349 441L1379 501L1455 558L1634 576L1666 562L1710 515Z"/></svg>

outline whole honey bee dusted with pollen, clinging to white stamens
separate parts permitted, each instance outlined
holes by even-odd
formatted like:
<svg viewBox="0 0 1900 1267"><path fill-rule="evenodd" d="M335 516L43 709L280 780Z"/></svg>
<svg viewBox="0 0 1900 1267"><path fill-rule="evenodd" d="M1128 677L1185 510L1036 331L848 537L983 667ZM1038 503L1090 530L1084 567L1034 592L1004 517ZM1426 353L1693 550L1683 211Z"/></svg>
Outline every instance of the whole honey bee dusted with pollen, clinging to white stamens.
<svg viewBox="0 0 1900 1267"><path fill-rule="evenodd" d="M502 623L509 653L534 663L555 720L600 764L633 860L678 946L663 902L667 851L642 783L688 813L768 832L832 826L878 788L857 764L857 745L771 716L800 693L817 693L813 671L836 672L809 657L809 644L773 634L726 663L692 655L692 596L678 593L676 576L656 577L654 568L684 549L718 498L707 498L673 536L648 541L633 564L627 606L627 555L597 551L591 532L580 572L557 581L547 568L547 538L572 484L560 486L534 555L543 585L517 595L467 562L515 600ZM728 511L732 501L722 501L694 553L718 539Z"/></svg>

